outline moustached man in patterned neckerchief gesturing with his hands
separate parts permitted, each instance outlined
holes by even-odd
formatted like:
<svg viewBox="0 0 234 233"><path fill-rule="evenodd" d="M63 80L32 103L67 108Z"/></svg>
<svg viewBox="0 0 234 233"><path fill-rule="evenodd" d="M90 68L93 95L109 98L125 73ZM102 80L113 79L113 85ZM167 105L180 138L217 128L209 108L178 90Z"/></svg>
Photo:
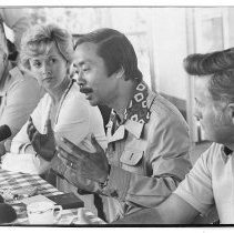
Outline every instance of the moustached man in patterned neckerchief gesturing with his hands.
<svg viewBox="0 0 234 233"><path fill-rule="evenodd" d="M102 197L108 222L159 205L191 169L185 120L149 89L131 42L116 30L99 29L79 37L74 67L90 104L112 109L108 151L94 139L94 153L64 139L59 154L68 160L70 173L53 169L74 185L81 176L98 182L94 192Z"/></svg>

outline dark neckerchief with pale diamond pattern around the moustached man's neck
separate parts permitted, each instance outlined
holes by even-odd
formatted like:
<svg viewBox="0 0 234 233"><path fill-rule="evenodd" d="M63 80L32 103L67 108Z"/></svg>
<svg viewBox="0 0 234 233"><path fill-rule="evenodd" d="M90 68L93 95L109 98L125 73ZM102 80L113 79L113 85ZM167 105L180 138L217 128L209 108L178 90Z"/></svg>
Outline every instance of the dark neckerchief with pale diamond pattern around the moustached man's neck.
<svg viewBox="0 0 234 233"><path fill-rule="evenodd" d="M122 122L120 121L118 113L112 109L110 115L110 121L112 121L114 125L112 128L112 134L121 124L124 124L126 120L132 120L142 124L149 122L150 110L147 108L147 95L149 88L146 83L140 82L133 92L133 98L131 99L128 108L124 110L124 118Z"/></svg>

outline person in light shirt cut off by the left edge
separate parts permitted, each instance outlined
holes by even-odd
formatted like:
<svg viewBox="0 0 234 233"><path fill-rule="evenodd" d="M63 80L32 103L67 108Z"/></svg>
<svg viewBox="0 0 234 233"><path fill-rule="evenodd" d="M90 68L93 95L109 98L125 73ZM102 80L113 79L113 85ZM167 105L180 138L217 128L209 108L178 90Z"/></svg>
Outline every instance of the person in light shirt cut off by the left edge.
<svg viewBox="0 0 234 233"><path fill-rule="evenodd" d="M32 75L9 60L8 44L0 23L0 156L10 149L11 139L44 94L43 88Z"/></svg>

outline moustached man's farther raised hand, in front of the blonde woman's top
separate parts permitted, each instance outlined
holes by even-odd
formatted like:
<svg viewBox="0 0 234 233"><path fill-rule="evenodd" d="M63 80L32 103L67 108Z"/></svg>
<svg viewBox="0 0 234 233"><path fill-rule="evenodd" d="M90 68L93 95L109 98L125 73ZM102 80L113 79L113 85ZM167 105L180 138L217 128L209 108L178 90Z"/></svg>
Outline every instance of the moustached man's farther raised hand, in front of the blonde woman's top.
<svg viewBox="0 0 234 233"><path fill-rule="evenodd" d="M34 151L44 160L50 161L55 152L55 139L51 126L51 120L47 121L47 134L41 134L34 126L30 116L27 133Z"/></svg>

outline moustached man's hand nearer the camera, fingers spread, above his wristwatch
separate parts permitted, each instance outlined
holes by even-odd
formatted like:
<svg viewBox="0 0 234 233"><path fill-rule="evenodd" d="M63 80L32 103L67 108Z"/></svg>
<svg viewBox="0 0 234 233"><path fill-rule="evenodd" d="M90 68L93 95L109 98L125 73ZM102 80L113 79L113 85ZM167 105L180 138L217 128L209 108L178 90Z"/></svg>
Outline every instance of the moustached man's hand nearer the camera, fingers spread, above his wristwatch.
<svg viewBox="0 0 234 233"><path fill-rule="evenodd" d="M104 183L109 175L109 162L104 150L96 142L94 135L91 136L94 153L81 150L78 145L62 138L67 149L58 146L59 156L67 160L67 165L74 169L78 174L100 183Z"/></svg>

